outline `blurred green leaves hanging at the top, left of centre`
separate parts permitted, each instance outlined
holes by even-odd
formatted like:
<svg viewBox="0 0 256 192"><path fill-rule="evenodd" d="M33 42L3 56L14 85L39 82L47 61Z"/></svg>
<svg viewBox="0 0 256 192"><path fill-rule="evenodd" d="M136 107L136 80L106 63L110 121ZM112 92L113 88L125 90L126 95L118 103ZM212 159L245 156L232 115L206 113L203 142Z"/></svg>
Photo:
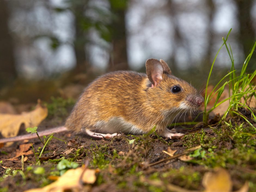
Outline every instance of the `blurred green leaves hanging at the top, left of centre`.
<svg viewBox="0 0 256 192"><path fill-rule="evenodd" d="M105 0L108 6L99 6L92 3L93 0L77 1L68 0L66 1L66 7L53 7L52 10L56 13L63 13L64 11L71 11L75 19L77 20L80 28L83 32L89 32L95 30L100 38L106 42L112 40L112 27L111 23L113 20L118 20L118 15L114 13L114 10L126 10L128 0ZM79 10L79 11L78 11ZM55 44L58 37L51 38L52 44ZM84 39L78 39L82 41L90 42L90 37L84 36ZM54 48L54 47L53 47Z"/></svg>

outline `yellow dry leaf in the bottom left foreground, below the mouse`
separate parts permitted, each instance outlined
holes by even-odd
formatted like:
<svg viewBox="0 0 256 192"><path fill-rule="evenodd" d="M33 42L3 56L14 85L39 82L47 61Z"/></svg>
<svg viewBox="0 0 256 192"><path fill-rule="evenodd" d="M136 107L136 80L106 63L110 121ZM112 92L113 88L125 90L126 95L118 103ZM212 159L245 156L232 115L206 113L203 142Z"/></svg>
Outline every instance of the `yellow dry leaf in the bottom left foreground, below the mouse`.
<svg viewBox="0 0 256 192"><path fill-rule="evenodd" d="M81 191L81 187L83 187L83 185L80 184L80 181L86 184L93 184L96 181L96 171L97 170L93 169L84 170L83 167L69 169L66 173L64 173L64 175L59 177L57 181L51 183L50 185L43 188L30 189L24 192Z"/></svg>

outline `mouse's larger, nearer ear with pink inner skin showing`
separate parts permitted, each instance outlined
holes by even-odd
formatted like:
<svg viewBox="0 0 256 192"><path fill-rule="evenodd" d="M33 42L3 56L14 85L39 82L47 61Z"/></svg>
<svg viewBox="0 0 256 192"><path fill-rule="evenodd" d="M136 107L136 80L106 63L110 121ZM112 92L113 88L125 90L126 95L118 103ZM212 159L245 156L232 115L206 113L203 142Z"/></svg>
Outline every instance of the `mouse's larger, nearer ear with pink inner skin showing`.
<svg viewBox="0 0 256 192"><path fill-rule="evenodd" d="M146 61L146 73L152 83L152 87L156 87L156 85L163 80L163 72L164 68L159 60L148 59Z"/></svg>

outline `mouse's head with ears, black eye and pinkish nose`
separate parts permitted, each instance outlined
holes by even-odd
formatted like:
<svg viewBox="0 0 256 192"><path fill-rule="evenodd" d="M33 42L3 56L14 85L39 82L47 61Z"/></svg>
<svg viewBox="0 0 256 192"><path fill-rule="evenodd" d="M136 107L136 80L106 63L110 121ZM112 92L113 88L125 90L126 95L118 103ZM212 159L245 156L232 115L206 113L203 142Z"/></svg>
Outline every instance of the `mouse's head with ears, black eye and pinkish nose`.
<svg viewBox="0 0 256 192"><path fill-rule="evenodd" d="M149 80L148 100L161 112L192 111L203 103L204 99L198 91L188 82L172 75L163 60L148 59L146 73Z"/></svg>

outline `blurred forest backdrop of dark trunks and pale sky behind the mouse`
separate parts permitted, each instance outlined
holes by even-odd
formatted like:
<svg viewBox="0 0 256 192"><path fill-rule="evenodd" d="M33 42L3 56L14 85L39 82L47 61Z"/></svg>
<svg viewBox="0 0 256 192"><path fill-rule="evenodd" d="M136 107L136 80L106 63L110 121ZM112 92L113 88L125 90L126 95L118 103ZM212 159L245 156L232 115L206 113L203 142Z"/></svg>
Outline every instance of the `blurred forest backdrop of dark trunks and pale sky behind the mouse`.
<svg viewBox="0 0 256 192"><path fill-rule="evenodd" d="M256 0L0 0L0 99L77 97L105 72L145 72L149 58L203 89L230 28L240 68L256 39ZM224 48L215 73L230 64Z"/></svg>

